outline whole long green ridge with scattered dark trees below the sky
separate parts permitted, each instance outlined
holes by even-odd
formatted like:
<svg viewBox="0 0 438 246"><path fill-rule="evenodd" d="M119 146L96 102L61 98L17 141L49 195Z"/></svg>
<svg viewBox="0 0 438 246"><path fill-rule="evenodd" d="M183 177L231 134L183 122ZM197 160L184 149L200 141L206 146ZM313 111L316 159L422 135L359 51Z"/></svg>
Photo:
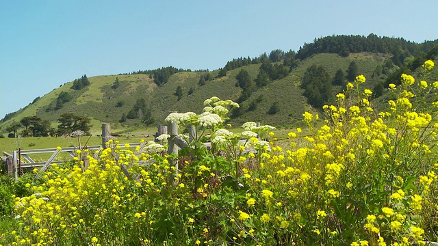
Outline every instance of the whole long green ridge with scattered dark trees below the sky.
<svg viewBox="0 0 438 246"><path fill-rule="evenodd" d="M90 81L84 74L60 85L52 96L35 98L24 109L8 113L0 124L4 132L29 115L55 122L63 113L74 112L101 122L149 125L161 122L164 112L170 110L196 111L193 102L208 96L239 102L241 107L231 112L235 122L293 124L306 107L320 110L333 102L335 94L359 74L365 74L366 86L374 92L372 97L378 98L389 83L400 81L402 73L415 74L424 61L437 55L438 40L419 44L374 34L328 36L315 38L298 51L274 49L258 57L235 58L213 71L168 66L103 75ZM95 79L102 82L93 84ZM294 110L279 107L285 103ZM21 115L29 106L31 112Z"/></svg>

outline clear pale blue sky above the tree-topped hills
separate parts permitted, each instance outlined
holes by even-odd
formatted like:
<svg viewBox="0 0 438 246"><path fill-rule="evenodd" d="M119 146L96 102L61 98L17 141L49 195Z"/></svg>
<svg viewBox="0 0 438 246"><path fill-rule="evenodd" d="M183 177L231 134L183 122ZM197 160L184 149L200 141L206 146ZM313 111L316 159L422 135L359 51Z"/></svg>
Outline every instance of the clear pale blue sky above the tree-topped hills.
<svg viewBox="0 0 438 246"><path fill-rule="evenodd" d="M297 51L332 34L438 38L438 1L0 0L0 118L87 74Z"/></svg>

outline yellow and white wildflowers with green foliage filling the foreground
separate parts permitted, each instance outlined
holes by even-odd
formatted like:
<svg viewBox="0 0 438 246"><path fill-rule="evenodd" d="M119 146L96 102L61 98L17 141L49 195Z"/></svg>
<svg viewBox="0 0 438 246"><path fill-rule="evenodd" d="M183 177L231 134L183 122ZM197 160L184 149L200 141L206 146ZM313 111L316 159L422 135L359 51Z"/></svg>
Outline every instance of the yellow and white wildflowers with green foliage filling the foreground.
<svg viewBox="0 0 438 246"><path fill-rule="evenodd" d="M359 75L324 115L306 112L281 148L272 126L224 126L231 100L204 113L171 113L194 141L167 155L109 142L99 158L77 152L40 179L18 181L2 245L425 245L437 241L438 81L387 88L384 109ZM435 78L436 79L436 78ZM315 122L324 122L315 126ZM321 124L318 124L321 125ZM201 143L207 133L211 149ZM168 135L162 135L166 141ZM183 136L184 137L184 136ZM242 141L241 139L246 139ZM83 160L90 166L83 170ZM172 163L178 163L177 168ZM122 172L126 166L129 175ZM35 170L38 172L38 169ZM29 174L31 175L31 174ZM18 185L17 184L17 185ZM5 210L6 211L6 210ZM6 213L6 212L5 212Z"/></svg>

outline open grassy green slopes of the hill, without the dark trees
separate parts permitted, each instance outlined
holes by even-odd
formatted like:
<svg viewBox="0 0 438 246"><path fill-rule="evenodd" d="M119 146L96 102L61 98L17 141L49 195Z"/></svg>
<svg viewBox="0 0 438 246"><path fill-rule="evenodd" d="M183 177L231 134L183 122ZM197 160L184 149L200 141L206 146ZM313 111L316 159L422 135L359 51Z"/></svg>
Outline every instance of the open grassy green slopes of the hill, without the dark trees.
<svg viewBox="0 0 438 246"><path fill-rule="evenodd" d="M297 66L283 79L270 81L266 87L257 89L250 98L241 103L243 114L231 120L233 124L241 124L248 120L273 124L276 126L290 126L301 119L303 111L309 108L307 100L302 96L300 88L302 76L312 64L323 66L331 77L341 68L346 71L351 61L356 61L359 72L368 78L367 84L372 87L373 83L383 81L385 76L372 79L371 75L378 64L383 64L390 55L378 53L352 53L348 57L336 54L315 54L311 57L298 61ZM280 61L279 64L282 64ZM166 83L157 86L149 74L127 75L101 75L88 78L90 85L81 90L73 90L73 82L66 83L42 96L36 102L19 110L14 117L1 122L3 133L5 128L19 122L25 116L37 115L44 120L50 120L52 125L57 126L57 118L62 113L75 113L87 116L92 120L95 134L99 134L101 123L112 123L114 131L133 131L135 128L144 128L138 119L128 119L124 123L118 121L123 113L127 114L133 108L139 98L144 98L148 107L152 109L154 124L164 123L164 118L170 111L194 111L200 113L203 101L211 96L222 99L237 100L242 89L236 87L236 75L241 69L247 70L250 79L256 79L261 64L250 64L234 70L229 70L224 77L216 78L218 72L209 72L211 79L205 85L198 85L201 76L207 72L178 72L173 74ZM120 85L114 89L114 81L118 78ZM180 100L175 96L177 87L181 86L183 96ZM188 94L192 89L192 94ZM335 87L335 91L342 88ZM61 92L68 92L72 96L61 109L54 110L57 96ZM255 109L248 110L251 102L257 102ZM270 107L277 103L279 112L269 115Z"/></svg>

